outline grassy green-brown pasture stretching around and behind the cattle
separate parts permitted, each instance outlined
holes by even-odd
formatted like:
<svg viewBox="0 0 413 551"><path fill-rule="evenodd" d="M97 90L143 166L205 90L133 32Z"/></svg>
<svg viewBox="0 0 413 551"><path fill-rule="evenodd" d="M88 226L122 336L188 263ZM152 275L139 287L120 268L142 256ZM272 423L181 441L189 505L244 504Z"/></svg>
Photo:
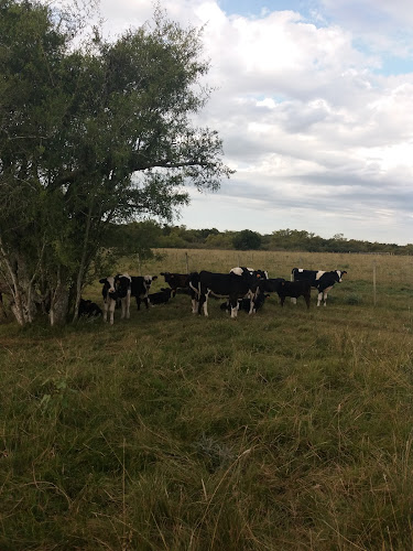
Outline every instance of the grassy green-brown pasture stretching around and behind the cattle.
<svg viewBox="0 0 413 551"><path fill-rule="evenodd" d="M119 271L348 273L309 311L1 324L0 550L413 549L413 259L161 252Z"/></svg>

